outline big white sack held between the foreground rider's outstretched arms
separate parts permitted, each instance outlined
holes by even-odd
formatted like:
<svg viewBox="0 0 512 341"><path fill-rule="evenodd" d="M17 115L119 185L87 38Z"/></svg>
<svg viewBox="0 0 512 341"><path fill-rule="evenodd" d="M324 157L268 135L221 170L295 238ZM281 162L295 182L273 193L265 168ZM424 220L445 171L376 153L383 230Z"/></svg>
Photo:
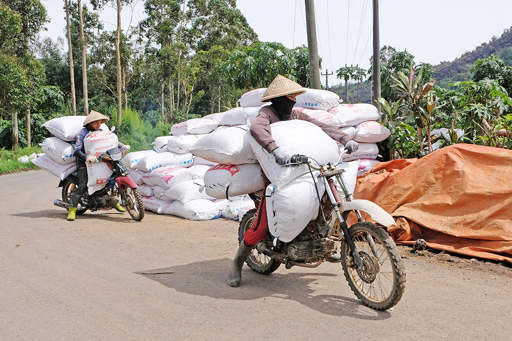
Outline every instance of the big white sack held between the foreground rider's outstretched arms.
<svg viewBox="0 0 512 341"><path fill-rule="evenodd" d="M334 163L339 156L336 141L313 123L303 120L290 120L272 123L270 127L275 143L280 150L290 156L303 154L313 158L321 165L329 162ZM250 133L247 135L251 147L260 161L261 168L276 188L281 189L294 178L309 173L307 165L281 167L275 162L274 155L260 146Z"/></svg>

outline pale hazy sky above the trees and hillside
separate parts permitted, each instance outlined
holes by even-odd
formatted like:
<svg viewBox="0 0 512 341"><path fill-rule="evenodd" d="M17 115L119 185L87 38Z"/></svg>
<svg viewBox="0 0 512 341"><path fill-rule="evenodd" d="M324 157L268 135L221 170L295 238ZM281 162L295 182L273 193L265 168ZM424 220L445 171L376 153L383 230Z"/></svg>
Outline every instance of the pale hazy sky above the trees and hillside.
<svg viewBox="0 0 512 341"><path fill-rule="evenodd" d="M41 0L51 22L41 37L65 38L66 13L62 0ZM88 0L82 0L89 4ZM329 85L342 82L336 70L345 65L369 69L372 56L372 0L314 0L321 73ZM307 46L304 0L238 0L237 8L261 41L278 41L287 48ZM407 49L415 62L439 64L472 51L512 27L509 0L380 0L380 47ZM122 12L124 31L145 17L144 1ZM116 28L116 11L100 13L106 30ZM67 44L67 41L64 41ZM321 82L325 85L325 76Z"/></svg>

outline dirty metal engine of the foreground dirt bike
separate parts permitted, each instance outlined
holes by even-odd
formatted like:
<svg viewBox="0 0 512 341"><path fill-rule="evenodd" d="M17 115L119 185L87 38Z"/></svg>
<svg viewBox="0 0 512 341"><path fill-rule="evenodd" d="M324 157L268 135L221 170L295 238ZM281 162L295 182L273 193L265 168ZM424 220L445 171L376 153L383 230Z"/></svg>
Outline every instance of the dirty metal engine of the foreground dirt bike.
<svg viewBox="0 0 512 341"><path fill-rule="evenodd" d="M327 258L336 251L336 244L330 239L317 239L294 242L288 245L287 256L293 261L313 262L318 258Z"/></svg>

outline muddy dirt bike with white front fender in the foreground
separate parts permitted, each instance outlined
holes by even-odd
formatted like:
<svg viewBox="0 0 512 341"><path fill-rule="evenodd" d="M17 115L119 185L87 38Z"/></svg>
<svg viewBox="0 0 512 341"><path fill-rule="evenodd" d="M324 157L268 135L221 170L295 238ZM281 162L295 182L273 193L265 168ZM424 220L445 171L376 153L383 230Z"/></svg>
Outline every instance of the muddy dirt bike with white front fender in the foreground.
<svg viewBox="0 0 512 341"><path fill-rule="evenodd" d="M268 233L260 241L246 260L247 265L258 274L269 275L281 264L289 269L292 266L316 267L324 261L340 262L349 286L365 305L385 310L400 301L406 283L406 272L399 250L387 233L377 224L367 222L361 216L366 212L377 223L389 227L395 224L393 217L374 202L354 199L345 178L344 169L336 168L342 161L344 150L335 164L315 166L305 155L293 155L291 164L308 165L310 173L324 180L326 193L321 197L318 217L309 222L306 228L290 242L282 242ZM312 159L311 159L312 160ZM343 190L340 200L334 179ZM316 182L315 182L316 184ZM256 207L261 197L252 193ZM252 226L257 210L248 211L240 222L239 243ZM347 225L349 213L354 212L358 222ZM340 244L340 257L336 257L337 243Z"/></svg>

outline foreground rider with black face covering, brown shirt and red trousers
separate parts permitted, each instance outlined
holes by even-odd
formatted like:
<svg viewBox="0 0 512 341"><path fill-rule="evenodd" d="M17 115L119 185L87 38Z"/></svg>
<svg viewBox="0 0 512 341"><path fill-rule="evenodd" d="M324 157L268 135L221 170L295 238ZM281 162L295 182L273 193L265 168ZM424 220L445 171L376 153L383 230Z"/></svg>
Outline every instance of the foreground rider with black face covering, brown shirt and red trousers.
<svg viewBox="0 0 512 341"><path fill-rule="evenodd" d="M271 102L271 105L260 109L258 116L252 122L250 133L254 140L269 153L272 153L275 162L279 165L290 163L290 155L282 150L272 139L270 124L278 121L305 120L322 128L332 139L342 143L353 153L359 148L359 144L351 140L347 134L336 127L319 122L299 110L294 110L295 96L304 94L306 90L298 83L278 75L263 94L262 102ZM265 187L270 183L265 178ZM250 255L252 248L263 240L268 234L267 210L265 196L262 196L256 218L252 227L246 232L244 240L240 243L237 255L233 259L231 272L228 276L230 286L238 287L242 281L242 266Z"/></svg>

